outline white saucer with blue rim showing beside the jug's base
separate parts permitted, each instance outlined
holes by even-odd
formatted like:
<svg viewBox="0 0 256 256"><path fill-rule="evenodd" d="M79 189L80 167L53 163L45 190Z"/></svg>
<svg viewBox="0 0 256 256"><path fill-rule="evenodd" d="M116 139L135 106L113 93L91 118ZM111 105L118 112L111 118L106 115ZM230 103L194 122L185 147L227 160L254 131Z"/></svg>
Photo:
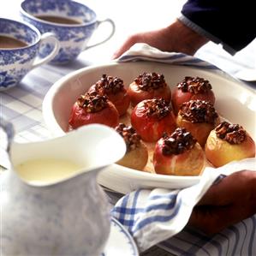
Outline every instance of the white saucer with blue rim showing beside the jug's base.
<svg viewBox="0 0 256 256"><path fill-rule="evenodd" d="M134 239L115 218L111 218L110 237L101 256L139 256Z"/></svg>

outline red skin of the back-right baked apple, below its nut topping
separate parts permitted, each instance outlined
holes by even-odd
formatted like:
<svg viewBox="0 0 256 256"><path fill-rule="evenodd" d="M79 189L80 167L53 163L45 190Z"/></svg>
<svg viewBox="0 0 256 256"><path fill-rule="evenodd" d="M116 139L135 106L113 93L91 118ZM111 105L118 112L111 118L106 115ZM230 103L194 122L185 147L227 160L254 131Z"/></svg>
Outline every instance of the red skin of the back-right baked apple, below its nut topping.
<svg viewBox="0 0 256 256"><path fill-rule="evenodd" d="M182 92L181 89L176 87L172 91L172 95L171 95L171 103L173 106L174 113L177 115L182 104L191 99L205 100L205 101L209 101L211 104L215 103L215 96L212 91L194 94L192 92Z"/></svg>

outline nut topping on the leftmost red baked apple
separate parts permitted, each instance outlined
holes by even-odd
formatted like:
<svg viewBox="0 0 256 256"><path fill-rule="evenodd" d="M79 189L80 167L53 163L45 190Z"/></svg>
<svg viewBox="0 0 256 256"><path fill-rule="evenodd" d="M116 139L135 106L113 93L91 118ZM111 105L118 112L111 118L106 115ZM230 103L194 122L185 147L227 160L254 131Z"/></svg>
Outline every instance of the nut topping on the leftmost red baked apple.
<svg viewBox="0 0 256 256"><path fill-rule="evenodd" d="M108 98L103 95L99 95L97 92L87 92L84 95L80 95L76 103L88 113L98 112L103 110L108 104Z"/></svg>

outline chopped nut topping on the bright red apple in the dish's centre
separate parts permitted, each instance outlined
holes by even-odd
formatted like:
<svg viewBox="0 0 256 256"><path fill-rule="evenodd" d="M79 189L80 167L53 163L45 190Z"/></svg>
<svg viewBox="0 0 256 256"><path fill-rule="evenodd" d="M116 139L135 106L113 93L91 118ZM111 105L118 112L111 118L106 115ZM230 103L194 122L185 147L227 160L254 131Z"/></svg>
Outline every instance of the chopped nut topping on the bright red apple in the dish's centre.
<svg viewBox="0 0 256 256"><path fill-rule="evenodd" d="M164 98L152 98L145 100L144 106L146 108L146 116L156 116L158 119L167 116L171 109L171 105L168 104Z"/></svg>

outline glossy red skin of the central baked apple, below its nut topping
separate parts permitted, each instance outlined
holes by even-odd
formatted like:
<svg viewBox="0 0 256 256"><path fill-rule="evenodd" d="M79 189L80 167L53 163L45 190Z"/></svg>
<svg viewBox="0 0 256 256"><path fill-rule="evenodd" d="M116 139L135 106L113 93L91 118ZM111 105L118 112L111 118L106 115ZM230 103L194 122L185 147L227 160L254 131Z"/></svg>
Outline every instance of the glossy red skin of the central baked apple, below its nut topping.
<svg viewBox="0 0 256 256"><path fill-rule="evenodd" d="M147 142L157 141L164 133L171 134L176 129L173 111L161 119L156 116L147 116L143 101L137 104L132 111L131 123L142 140Z"/></svg>

